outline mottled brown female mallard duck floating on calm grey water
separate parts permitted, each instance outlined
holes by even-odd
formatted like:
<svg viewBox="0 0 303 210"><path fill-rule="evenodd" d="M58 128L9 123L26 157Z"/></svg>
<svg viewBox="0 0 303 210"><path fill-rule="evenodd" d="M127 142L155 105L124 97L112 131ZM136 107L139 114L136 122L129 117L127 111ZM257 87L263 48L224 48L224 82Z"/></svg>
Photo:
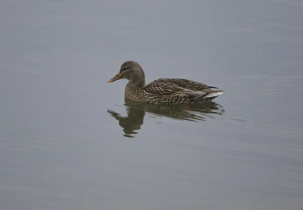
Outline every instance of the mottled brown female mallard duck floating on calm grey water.
<svg viewBox="0 0 303 210"><path fill-rule="evenodd" d="M153 104L194 104L212 101L225 93L215 91L203 83L185 79L161 78L145 86L145 75L142 67L135 61L126 61L120 72L108 82L127 79L125 98L137 102ZM217 88L216 88L217 89Z"/></svg>

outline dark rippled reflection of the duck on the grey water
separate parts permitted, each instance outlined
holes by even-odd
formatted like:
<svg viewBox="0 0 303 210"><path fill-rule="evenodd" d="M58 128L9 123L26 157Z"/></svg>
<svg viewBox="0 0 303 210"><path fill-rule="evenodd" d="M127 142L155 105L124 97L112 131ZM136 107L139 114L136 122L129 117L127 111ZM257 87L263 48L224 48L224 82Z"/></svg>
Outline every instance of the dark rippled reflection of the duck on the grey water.
<svg viewBox="0 0 303 210"><path fill-rule="evenodd" d="M134 137L135 130L139 130L143 124L145 113L150 117L160 118L168 117L176 120L205 121L208 118L217 118L224 114L224 107L215 103L208 102L204 104L180 104L180 105L156 105L142 102L134 102L125 99L127 116L121 116L120 113L108 109L112 117L119 121L123 128L124 136Z"/></svg>

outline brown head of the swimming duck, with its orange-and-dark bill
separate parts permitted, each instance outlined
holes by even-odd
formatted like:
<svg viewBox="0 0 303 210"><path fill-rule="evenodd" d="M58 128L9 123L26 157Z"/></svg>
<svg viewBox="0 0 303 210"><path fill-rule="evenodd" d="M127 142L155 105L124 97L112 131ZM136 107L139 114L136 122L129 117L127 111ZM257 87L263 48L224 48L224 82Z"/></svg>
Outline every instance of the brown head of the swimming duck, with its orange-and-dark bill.
<svg viewBox="0 0 303 210"><path fill-rule="evenodd" d="M143 83L145 84L145 75L142 67L135 61L126 61L120 67L120 72L110 79L108 82L114 82L120 79L127 79L130 83Z"/></svg>

